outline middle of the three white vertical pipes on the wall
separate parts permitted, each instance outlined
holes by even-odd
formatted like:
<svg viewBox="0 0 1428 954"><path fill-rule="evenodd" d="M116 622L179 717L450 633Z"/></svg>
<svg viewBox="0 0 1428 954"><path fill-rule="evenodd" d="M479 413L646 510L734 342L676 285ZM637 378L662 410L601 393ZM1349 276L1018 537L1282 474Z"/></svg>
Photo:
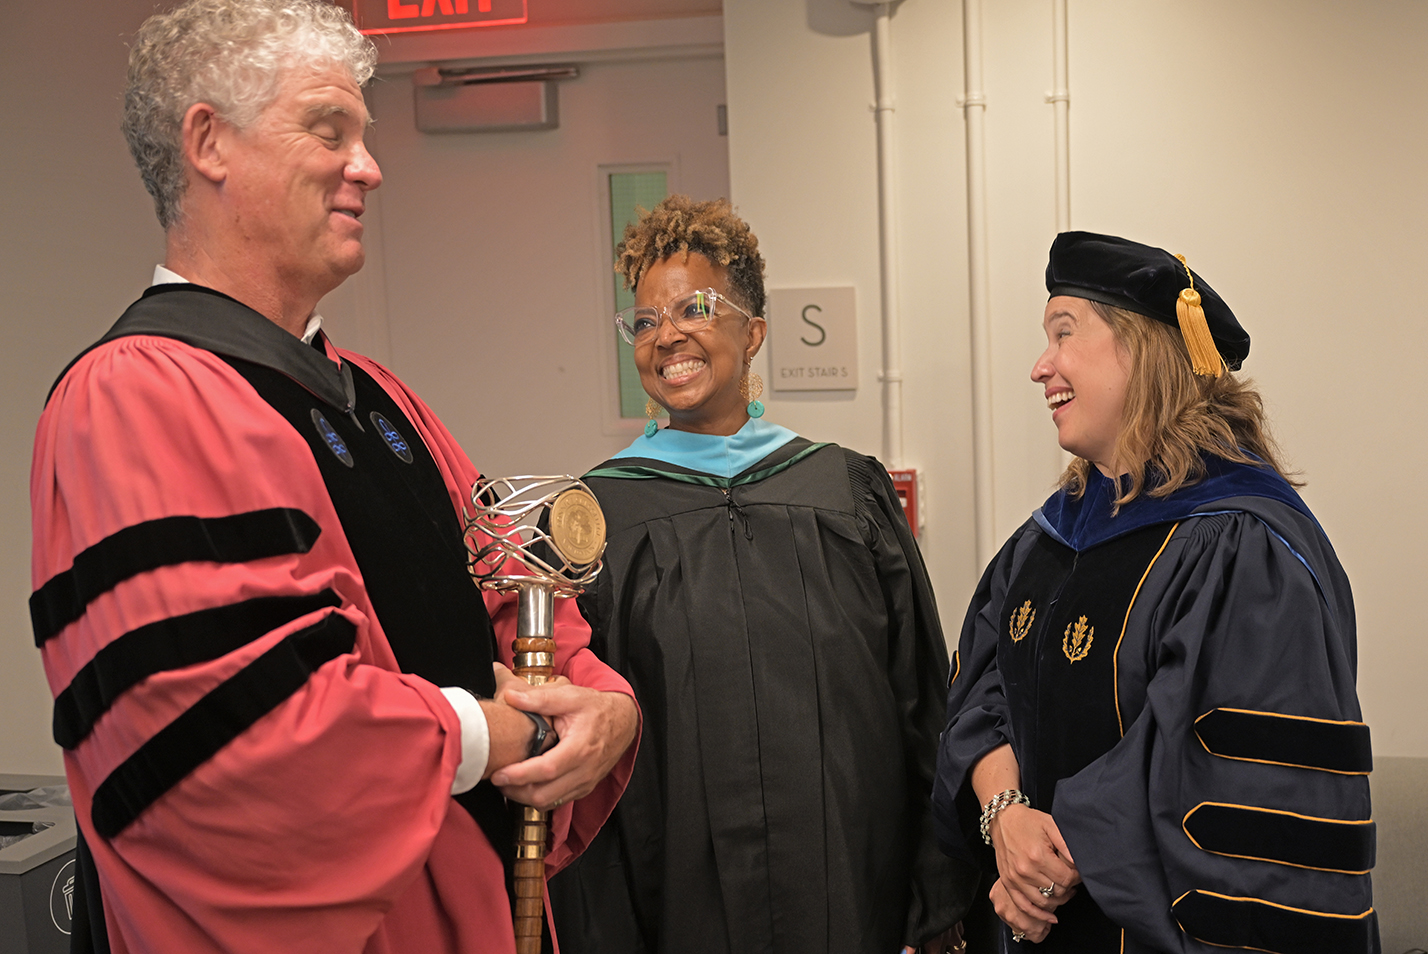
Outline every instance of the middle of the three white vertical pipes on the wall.
<svg viewBox="0 0 1428 954"><path fill-rule="evenodd" d="M987 93L982 89L981 0L962 0L962 64L967 119L967 288L971 298L972 488L977 563L995 554L991 447L991 298L987 270Z"/></svg>

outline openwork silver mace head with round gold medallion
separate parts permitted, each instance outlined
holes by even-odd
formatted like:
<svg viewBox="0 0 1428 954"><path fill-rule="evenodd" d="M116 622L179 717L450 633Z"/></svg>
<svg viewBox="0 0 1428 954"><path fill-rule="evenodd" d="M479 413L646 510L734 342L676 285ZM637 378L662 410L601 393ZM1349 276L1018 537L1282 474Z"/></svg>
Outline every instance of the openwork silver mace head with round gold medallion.
<svg viewBox="0 0 1428 954"><path fill-rule="evenodd" d="M573 597L600 574L605 516L575 477L480 480L466 514L466 548L467 567L484 590L534 584Z"/></svg>

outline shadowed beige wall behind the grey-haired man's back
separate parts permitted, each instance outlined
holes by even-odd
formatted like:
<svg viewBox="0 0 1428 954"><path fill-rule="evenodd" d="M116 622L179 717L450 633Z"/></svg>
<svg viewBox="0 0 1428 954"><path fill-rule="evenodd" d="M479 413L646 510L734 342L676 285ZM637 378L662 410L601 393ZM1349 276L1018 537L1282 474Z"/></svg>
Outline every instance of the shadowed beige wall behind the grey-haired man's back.
<svg viewBox="0 0 1428 954"><path fill-rule="evenodd" d="M163 233L119 134L133 33L149 0L10 4L0 57L0 771L60 771L30 637L30 444L60 370L149 284ZM70 20L70 19L67 19Z"/></svg>

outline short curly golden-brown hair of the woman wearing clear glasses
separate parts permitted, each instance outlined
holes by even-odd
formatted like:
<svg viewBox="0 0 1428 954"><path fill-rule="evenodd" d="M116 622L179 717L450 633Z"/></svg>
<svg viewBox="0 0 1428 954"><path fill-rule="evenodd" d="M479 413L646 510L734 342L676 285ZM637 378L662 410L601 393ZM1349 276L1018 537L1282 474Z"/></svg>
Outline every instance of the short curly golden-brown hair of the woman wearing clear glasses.
<svg viewBox="0 0 1428 954"><path fill-rule="evenodd" d="M625 226L615 247L615 273L634 291L650 266L673 254L685 258L701 254L727 268L730 297L750 314L763 317L764 257L758 254L758 239L727 199L694 201L688 196L670 196L650 211L640 210L638 221Z"/></svg>

